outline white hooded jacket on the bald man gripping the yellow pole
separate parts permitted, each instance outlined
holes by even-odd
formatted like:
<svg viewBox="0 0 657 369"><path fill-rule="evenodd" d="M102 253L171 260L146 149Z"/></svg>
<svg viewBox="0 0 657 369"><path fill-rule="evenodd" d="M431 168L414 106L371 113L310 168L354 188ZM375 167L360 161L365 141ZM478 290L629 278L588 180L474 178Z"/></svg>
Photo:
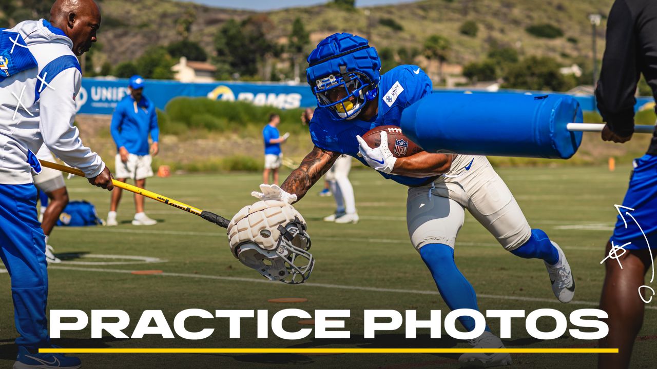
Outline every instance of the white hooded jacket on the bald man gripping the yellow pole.
<svg viewBox="0 0 657 369"><path fill-rule="evenodd" d="M36 153L42 143L85 177L96 177L105 164L73 125L82 79L73 42L43 19L5 31L20 33L38 67L0 81L0 184L32 183L27 150Z"/></svg>

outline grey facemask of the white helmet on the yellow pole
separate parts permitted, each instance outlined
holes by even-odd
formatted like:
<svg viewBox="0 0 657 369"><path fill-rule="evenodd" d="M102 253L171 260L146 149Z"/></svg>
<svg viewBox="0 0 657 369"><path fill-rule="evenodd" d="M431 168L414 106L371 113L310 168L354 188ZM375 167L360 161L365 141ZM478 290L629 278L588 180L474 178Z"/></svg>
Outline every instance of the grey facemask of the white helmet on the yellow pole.
<svg viewBox="0 0 657 369"><path fill-rule="evenodd" d="M315 266L313 255L307 251L311 242L306 225L295 217L285 227L279 225L277 230L281 232L281 237L275 248L266 250L255 242L244 242L235 248L237 258L269 280L287 284L306 282Z"/></svg>

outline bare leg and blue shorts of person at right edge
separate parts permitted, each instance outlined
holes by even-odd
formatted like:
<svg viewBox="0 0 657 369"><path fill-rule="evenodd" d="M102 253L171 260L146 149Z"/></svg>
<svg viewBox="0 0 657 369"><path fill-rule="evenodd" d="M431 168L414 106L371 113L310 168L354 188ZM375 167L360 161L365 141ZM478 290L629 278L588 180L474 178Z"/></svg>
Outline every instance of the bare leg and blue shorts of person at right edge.
<svg viewBox="0 0 657 369"><path fill-rule="evenodd" d="M645 303L639 288L645 284L645 273L657 255L657 156L645 155L634 161L634 170L616 219L614 234L607 244L605 278L600 298L600 309L609 318L609 334L600 340L600 347L618 348L619 353L600 355L600 368L627 368L632 344L641 329ZM618 247L614 253L609 251ZM648 250L652 246L652 252ZM623 250L620 248L622 247ZM620 265L622 265L622 269ZM657 296L645 290L644 298L652 302Z"/></svg>

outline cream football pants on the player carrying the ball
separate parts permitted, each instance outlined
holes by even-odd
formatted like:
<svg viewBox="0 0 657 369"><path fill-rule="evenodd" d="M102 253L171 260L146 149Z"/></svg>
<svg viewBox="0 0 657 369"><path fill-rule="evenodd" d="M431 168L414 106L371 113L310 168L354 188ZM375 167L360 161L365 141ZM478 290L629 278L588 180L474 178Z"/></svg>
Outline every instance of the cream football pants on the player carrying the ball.
<svg viewBox="0 0 657 369"><path fill-rule="evenodd" d="M426 244L453 248L464 209L509 251L530 239L532 228L486 156L458 155L451 168L433 183L408 190L406 221L417 250Z"/></svg>

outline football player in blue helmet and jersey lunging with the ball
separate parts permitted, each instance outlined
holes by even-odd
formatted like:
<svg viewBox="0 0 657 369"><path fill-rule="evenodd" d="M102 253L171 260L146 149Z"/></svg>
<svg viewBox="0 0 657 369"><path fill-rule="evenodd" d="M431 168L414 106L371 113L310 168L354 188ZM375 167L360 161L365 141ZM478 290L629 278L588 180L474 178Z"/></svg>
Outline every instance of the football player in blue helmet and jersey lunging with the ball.
<svg viewBox="0 0 657 369"><path fill-rule="evenodd" d="M399 126L407 106L432 93L432 82L419 66L397 66L380 75L380 59L367 39L336 33L321 41L308 56L307 82L317 97L309 125L313 150L281 187L261 185L261 200L292 204L301 200L341 154L373 167L386 179L409 187L407 225L411 243L431 272L449 309L476 309L472 285L454 262L457 234L467 209L508 251L526 259L541 259L556 298L572 300L575 282L563 251L540 229L532 229L509 188L484 156L420 152L395 158L387 133L370 148L361 135L380 125ZM474 319L462 317L474 329ZM489 328L470 340L475 348L501 348ZM464 365L510 364L509 354L466 353Z"/></svg>

